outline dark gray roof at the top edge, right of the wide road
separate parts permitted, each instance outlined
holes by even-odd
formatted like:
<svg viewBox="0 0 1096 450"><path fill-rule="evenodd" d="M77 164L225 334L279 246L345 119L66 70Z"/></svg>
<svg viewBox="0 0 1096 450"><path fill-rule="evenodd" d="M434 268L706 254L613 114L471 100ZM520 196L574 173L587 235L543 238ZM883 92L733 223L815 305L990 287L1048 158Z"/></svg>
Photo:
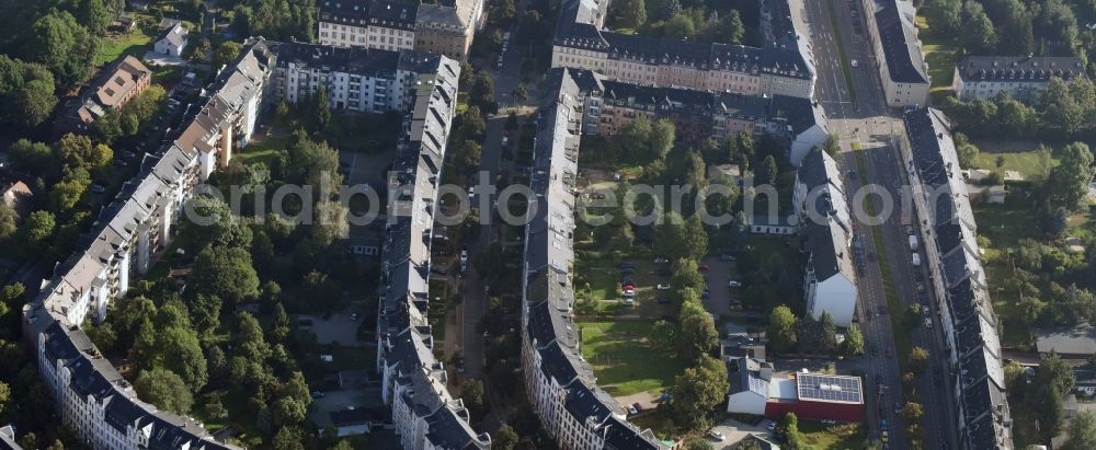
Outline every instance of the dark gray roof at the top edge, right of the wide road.
<svg viewBox="0 0 1096 450"><path fill-rule="evenodd" d="M887 58L887 71L899 83L927 83L925 60L912 22L913 7L905 0L882 0L876 26Z"/></svg>

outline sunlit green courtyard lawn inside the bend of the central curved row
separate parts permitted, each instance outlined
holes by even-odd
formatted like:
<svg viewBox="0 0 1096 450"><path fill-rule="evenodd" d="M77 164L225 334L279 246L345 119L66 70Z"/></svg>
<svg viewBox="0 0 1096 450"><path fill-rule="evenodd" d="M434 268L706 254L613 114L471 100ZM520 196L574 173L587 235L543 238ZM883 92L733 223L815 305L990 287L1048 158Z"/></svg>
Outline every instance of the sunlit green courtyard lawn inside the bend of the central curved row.
<svg viewBox="0 0 1096 450"><path fill-rule="evenodd" d="M661 394L673 385L677 364L660 354L648 339L652 321L580 322L582 356L597 376L597 384L614 396L639 392Z"/></svg>

